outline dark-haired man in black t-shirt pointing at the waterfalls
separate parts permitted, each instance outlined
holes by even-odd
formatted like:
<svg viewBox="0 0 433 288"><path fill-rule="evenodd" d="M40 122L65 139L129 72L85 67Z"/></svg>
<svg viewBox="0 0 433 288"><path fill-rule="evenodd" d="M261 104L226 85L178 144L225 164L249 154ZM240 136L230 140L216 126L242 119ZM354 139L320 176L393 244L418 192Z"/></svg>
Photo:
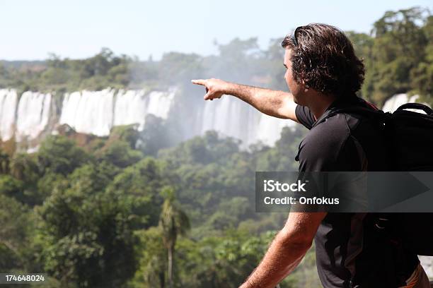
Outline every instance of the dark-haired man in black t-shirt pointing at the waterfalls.
<svg viewBox="0 0 433 288"><path fill-rule="evenodd" d="M337 114L313 127L331 108L372 105L355 95L364 65L337 28L310 24L284 38L284 78L290 93L229 83L204 85L204 100L233 95L270 116L311 129L299 145L299 172L389 171L383 137L371 120ZM313 239L323 287L429 287L416 255L393 243L367 213L291 212L262 262L241 287L275 287L299 264Z"/></svg>

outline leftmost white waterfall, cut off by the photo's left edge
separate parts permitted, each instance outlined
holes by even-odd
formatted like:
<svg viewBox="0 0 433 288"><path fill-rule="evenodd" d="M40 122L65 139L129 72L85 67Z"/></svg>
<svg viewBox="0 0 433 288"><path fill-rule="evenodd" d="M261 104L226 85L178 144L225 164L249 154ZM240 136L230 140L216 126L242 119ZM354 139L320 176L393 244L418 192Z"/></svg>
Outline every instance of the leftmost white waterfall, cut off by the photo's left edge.
<svg viewBox="0 0 433 288"><path fill-rule="evenodd" d="M0 139L13 137L15 126L15 109L18 95L13 89L0 89Z"/></svg>

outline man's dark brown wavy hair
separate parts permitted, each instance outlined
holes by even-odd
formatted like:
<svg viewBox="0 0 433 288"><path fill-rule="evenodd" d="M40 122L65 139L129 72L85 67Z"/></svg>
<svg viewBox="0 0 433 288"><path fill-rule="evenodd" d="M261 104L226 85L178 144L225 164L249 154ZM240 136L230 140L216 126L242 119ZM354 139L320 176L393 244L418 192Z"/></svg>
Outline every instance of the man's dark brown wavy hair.
<svg viewBox="0 0 433 288"><path fill-rule="evenodd" d="M337 97L354 95L361 88L364 64L342 30L312 23L296 28L281 44L293 50L291 69L296 83L304 80L308 88Z"/></svg>

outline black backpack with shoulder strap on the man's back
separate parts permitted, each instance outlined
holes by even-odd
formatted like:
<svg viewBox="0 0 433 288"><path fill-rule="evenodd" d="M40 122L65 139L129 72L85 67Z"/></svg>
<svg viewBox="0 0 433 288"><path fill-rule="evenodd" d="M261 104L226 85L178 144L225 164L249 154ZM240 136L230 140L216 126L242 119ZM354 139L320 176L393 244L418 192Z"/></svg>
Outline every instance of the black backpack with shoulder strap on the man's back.
<svg viewBox="0 0 433 288"><path fill-rule="evenodd" d="M408 111L422 110L426 114ZM403 104L396 112L383 112L354 106L330 109L314 126L338 113L360 114L372 117L383 128L389 140L394 171L432 172L433 176L433 110L424 104ZM433 203L431 203L433 205ZM393 235L393 241L417 255L433 256L433 213L378 213L376 227Z"/></svg>

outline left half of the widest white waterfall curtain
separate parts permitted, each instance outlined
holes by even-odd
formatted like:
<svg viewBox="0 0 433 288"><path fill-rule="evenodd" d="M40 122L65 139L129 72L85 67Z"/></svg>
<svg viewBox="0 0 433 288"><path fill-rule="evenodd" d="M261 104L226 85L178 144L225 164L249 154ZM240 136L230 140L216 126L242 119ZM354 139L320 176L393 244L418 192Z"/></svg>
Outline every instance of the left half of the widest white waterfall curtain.
<svg viewBox="0 0 433 288"><path fill-rule="evenodd" d="M59 124L96 136L110 134L115 90L72 92L64 96Z"/></svg>

